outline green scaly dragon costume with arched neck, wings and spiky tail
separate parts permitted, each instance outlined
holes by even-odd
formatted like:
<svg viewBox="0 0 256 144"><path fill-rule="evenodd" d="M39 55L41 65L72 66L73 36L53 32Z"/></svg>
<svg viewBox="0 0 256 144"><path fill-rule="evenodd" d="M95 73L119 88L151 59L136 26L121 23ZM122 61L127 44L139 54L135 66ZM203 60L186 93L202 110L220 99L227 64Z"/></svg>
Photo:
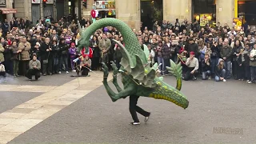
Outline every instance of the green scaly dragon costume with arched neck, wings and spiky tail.
<svg viewBox="0 0 256 144"><path fill-rule="evenodd" d="M116 18L103 18L94 22L86 30L82 31L82 37L78 42L78 50L83 47L88 51L90 44L90 36L98 29L105 26L114 26L121 32L124 39L124 47L120 42L118 46L121 47L122 60L120 64L121 69L115 66L112 62L113 67L113 84L118 90L116 94L111 90L107 82L107 77L109 75L108 67L105 63L102 63L102 70L104 71L103 85L106 88L107 94L113 102L116 102L120 98L126 98L127 96L138 95L156 99L165 99L170 102L174 102L176 105L181 106L186 109L189 105L188 100L180 92L182 88L182 66L181 63L174 63L170 60L170 67L166 69L175 76L177 79L176 88L168 85L166 82L162 81L162 77L157 77L158 64L150 67L147 59L150 55L150 51L144 45L144 50L142 50L141 45L138 42L133 31L125 22L122 22ZM122 84L123 90L118 85L117 74L122 74Z"/></svg>

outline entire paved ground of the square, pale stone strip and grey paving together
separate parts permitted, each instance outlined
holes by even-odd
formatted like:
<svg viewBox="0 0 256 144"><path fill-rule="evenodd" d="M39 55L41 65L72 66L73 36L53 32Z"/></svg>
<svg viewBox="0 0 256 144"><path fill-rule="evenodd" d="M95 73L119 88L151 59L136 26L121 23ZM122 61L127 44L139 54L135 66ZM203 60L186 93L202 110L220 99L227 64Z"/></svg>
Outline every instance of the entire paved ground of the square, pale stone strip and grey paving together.
<svg viewBox="0 0 256 144"><path fill-rule="evenodd" d="M104 86L100 86L102 73L91 75L69 79L63 85L60 82L47 86L43 81L69 77L43 77L37 82L40 85L26 83L30 86L22 86L23 89L19 85L0 85L0 95L7 94L6 90L14 94L27 90L32 98L27 102L21 99L25 102L0 114L0 143L256 142L254 84L234 80L182 82L182 92L190 101L186 110L171 102L141 97L138 106L151 112L150 121L144 124L138 115L142 124L130 126L129 98L111 102ZM165 81L176 85L172 77ZM34 98L34 94L39 96Z"/></svg>

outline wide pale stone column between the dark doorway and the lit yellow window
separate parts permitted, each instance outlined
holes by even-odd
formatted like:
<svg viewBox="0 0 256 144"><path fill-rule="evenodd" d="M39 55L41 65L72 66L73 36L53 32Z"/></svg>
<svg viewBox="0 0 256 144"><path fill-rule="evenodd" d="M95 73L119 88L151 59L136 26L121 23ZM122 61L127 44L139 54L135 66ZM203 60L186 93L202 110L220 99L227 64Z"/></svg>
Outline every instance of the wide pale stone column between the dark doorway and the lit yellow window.
<svg viewBox="0 0 256 144"><path fill-rule="evenodd" d="M176 18L182 22L184 18L191 21L192 0L163 0L163 19L175 22Z"/></svg>

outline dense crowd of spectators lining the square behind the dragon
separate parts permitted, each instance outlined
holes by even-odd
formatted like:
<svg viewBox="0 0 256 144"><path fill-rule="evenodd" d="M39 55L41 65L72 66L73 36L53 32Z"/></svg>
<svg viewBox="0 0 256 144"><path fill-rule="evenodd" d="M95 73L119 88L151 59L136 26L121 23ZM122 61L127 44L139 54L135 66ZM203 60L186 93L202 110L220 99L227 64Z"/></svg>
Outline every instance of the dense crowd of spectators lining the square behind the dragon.
<svg viewBox="0 0 256 144"><path fill-rule="evenodd" d="M82 18L82 29L90 26L89 19ZM38 21L31 26L26 19L14 18L10 23L3 22L0 29L0 62L6 73L18 77L25 75L36 79L52 74L69 73L70 70L83 71L89 76L90 70L101 70L101 62L111 68L110 61L120 68L122 54L113 39L124 46L122 34L114 27L97 30L90 39L90 53L77 50L79 35L78 23L65 18L54 22L52 18ZM184 19L173 24L163 21L153 25L153 30L143 27L133 29L138 42L150 50L149 62L159 66L162 75L168 74L166 66L170 59L182 62L183 79L203 80L214 78L217 82L226 79L256 81L256 42L255 31L248 25L240 30L219 22L216 26L200 27L198 22ZM79 58L80 64L76 59Z"/></svg>

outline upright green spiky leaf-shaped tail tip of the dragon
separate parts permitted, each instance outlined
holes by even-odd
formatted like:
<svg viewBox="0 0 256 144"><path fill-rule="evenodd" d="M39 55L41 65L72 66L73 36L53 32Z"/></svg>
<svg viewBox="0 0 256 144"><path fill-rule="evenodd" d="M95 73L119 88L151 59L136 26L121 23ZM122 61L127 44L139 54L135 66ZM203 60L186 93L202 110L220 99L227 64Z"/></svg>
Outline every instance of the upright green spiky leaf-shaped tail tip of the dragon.
<svg viewBox="0 0 256 144"><path fill-rule="evenodd" d="M176 89L182 89L182 64L179 62L176 64L170 59L170 67L166 66L166 69L170 74L174 74L174 77L177 79Z"/></svg>

